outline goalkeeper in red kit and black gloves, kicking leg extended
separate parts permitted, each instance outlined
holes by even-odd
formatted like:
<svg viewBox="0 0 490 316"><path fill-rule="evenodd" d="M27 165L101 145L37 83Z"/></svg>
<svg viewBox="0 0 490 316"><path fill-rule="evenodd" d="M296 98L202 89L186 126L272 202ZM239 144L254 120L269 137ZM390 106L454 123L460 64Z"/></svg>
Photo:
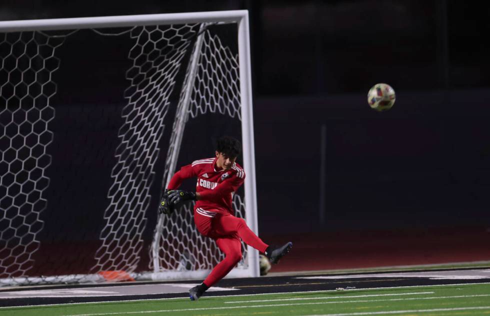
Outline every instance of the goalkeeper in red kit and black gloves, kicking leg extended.
<svg viewBox="0 0 490 316"><path fill-rule="evenodd" d="M232 137L219 138L215 157L195 160L181 167L170 179L160 202L160 211L169 213L181 201L196 200L194 222L197 230L213 238L225 254L204 281L189 290L191 300L197 300L240 261L240 239L263 252L271 263L277 263L292 247L292 242L269 246L248 228L242 218L234 216L231 194L243 184L245 178L245 172L235 162L240 148L240 142ZM197 177L195 192L177 189L183 179L190 177Z"/></svg>

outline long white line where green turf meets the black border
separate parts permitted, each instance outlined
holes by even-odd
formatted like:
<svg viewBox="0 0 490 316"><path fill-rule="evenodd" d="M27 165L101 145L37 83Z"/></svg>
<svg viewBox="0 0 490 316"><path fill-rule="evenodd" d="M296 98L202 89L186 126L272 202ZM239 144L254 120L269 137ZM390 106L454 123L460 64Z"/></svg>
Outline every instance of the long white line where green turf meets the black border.
<svg viewBox="0 0 490 316"><path fill-rule="evenodd" d="M476 283L450 283L450 284L431 284L431 285L405 285L405 286L386 286L386 287L365 287L346 289L345 291L366 291L366 290L382 290L382 289L410 289L413 287L439 287L439 286L454 286L454 285L478 285L478 284L490 284L490 282L476 282ZM325 292L337 292L336 289L323 289L315 291L295 291L295 292L277 292L277 293L255 293L255 294L231 294L231 295L212 295L212 297L233 297L233 296L257 296L257 295L277 295L277 294L298 294L298 293L325 293ZM186 294L186 293L182 293ZM211 297L211 296L210 296ZM104 303L122 303L122 302L141 302L145 300L173 300L173 299L189 299L187 296L182 297L168 297L168 298L142 298L142 299L125 299L125 300L104 300L104 301L89 301L89 302L77 302L77 303L63 303L63 304L39 304L39 305L23 305L23 306L0 306L1 309L7 308L25 308L25 307L41 307L41 306L68 306L68 305L80 305L80 304L104 304ZM205 297L204 297L205 299Z"/></svg>

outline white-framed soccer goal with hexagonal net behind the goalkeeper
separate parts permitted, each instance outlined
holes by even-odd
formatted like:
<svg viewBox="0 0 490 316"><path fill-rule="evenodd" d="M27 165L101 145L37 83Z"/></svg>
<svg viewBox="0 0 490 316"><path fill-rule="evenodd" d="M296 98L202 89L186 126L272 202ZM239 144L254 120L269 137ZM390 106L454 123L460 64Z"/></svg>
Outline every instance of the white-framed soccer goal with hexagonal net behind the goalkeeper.
<svg viewBox="0 0 490 316"><path fill-rule="evenodd" d="M246 11L5 21L0 59L1 285L204 277L222 254L192 203L157 207L223 134L256 232ZM257 276L242 252L230 276Z"/></svg>

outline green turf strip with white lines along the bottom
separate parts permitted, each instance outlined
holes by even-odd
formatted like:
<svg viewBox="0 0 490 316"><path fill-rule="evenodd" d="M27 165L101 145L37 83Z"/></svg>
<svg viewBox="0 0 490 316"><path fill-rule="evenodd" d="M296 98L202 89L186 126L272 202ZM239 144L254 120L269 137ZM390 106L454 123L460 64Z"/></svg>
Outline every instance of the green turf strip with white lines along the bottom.
<svg viewBox="0 0 490 316"><path fill-rule="evenodd" d="M0 308L1 316L152 314L484 315L490 314L490 283Z"/></svg>

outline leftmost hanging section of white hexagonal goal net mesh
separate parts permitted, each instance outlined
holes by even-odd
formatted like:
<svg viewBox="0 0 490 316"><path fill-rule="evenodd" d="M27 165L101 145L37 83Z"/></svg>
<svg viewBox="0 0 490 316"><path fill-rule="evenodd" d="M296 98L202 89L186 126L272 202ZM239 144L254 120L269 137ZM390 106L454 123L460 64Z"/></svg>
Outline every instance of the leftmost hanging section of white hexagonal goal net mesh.
<svg viewBox="0 0 490 316"><path fill-rule="evenodd" d="M41 32L0 34L0 277L25 275L39 248L49 185L51 75L62 38Z"/></svg>

